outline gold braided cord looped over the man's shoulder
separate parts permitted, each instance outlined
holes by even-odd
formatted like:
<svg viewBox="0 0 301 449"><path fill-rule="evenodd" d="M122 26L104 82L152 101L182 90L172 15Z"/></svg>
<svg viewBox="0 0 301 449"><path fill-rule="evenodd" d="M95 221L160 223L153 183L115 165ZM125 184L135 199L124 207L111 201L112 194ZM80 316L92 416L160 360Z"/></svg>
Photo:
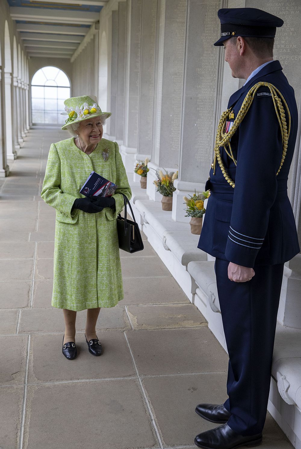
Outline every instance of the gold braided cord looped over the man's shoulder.
<svg viewBox="0 0 301 449"><path fill-rule="evenodd" d="M218 162L218 165L221 167L221 172L224 175L226 181L233 188L235 187L235 182L230 178L230 176L228 175L228 173L226 171L226 168L225 168L224 163L221 158L220 147L223 146L225 148L228 156L233 160L235 165L237 165L237 161L234 158L234 154L232 152L232 148L230 145L230 139L231 139L231 137L234 136L240 123L243 121L250 106L252 105L252 101L254 100L257 90L261 86L266 86L270 89L273 103L274 103L275 112L276 112L277 119L278 119L279 126L280 126L281 136L282 136L282 145L283 145L282 159L281 159L281 164L280 164L279 170L276 173L276 176L278 176L278 174L281 170L281 167L283 166L283 162L284 162L284 159L285 159L285 156L287 153L288 138L289 138L289 134L291 131L291 114L289 112L287 102L285 101L282 93L279 92L279 90L273 84L265 83L265 82L261 81L257 84L254 84L254 86L252 86L252 88L248 91L230 131L228 133L225 132L225 125L226 125L226 120L230 114L231 108L227 109L225 112L223 112L221 114L221 119L220 119L218 127L217 127L217 136L216 136L215 146L214 146L214 160L212 163L213 174L215 174L216 164ZM288 127L287 127L287 122L286 122L286 117L285 117L285 112L284 112L282 102L284 103L284 106L285 106L285 108L287 110L287 114L288 114ZM226 149L226 145L228 145L228 147L229 147L230 154Z"/></svg>

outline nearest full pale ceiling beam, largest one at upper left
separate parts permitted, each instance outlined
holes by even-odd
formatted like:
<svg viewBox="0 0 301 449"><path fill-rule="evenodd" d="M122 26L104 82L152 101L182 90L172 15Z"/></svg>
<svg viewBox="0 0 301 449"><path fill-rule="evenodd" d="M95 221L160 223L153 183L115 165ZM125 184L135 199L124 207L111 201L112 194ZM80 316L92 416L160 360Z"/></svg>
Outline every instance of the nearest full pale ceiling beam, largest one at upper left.
<svg viewBox="0 0 301 449"><path fill-rule="evenodd" d="M92 25L99 18L99 13L72 11L66 9L44 9L11 6L10 16L13 20L30 20L31 22L82 23ZM80 16L79 16L80 14Z"/></svg>

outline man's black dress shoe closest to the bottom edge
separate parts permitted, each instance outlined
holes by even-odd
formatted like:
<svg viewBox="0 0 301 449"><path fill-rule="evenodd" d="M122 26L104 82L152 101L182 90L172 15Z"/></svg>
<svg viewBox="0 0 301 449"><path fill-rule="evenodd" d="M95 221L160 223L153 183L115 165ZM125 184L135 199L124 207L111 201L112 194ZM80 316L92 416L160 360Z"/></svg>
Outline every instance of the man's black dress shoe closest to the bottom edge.
<svg viewBox="0 0 301 449"><path fill-rule="evenodd" d="M236 449L242 446L252 448L262 442L262 433L242 436L232 430L228 424L200 433L195 437L195 444L203 449Z"/></svg>

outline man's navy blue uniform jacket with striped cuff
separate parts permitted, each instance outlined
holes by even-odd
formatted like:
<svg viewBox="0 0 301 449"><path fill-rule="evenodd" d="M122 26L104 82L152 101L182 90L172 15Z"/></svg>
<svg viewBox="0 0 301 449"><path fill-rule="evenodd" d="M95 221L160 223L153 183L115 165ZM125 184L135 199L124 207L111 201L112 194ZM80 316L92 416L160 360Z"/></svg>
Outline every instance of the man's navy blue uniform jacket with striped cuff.
<svg viewBox="0 0 301 449"><path fill-rule="evenodd" d="M279 61L270 62L235 92L229 100L234 116L249 89L259 81L273 84L285 98L291 114L291 132L283 167L282 139L273 99L260 87L239 128L231 138L237 166L221 147L233 189L217 163L210 171L210 189L198 247L212 256L245 267L282 264L300 252L296 223L288 198L288 173L292 163L298 112L293 88ZM283 105L284 109L285 106ZM288 125L288 118L287 118Z"/></svg>

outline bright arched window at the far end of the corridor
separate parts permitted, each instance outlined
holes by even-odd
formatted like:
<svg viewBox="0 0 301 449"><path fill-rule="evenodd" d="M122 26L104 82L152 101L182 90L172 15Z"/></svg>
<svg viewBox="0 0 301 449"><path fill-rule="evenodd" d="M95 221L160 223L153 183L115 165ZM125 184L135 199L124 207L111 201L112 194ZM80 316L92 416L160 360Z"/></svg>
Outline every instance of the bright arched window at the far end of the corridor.
<svg viewBox="0 0 301 449"><path fill-rule="evenodd" d="M70 98L70 81L58 67L47 66L35 72L31 80L32 123L65 123L64 100Z"/></svg>

